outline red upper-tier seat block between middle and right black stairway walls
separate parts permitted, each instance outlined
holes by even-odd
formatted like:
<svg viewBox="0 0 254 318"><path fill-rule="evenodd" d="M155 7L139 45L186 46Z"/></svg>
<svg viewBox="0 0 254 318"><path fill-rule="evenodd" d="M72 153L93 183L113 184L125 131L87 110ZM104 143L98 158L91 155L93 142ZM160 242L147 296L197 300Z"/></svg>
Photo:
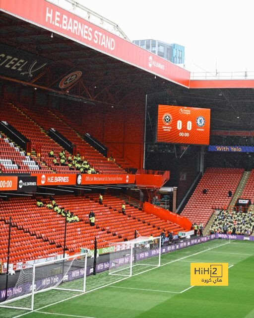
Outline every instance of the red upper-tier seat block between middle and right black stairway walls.
<svg viewBox="0 0 254 318"><path fill-rule="evenodd" d="M20 106L22 107L22 106ZM113 161L108 161L97 150L87 144L69 125L57 117L50 110L33 106L33 108L22 108L33 120L35 120L45 130L55 128L65 138L67 138L77 148L80 156L83 156L92 165L96 171L106 174L123 174L126 173L119 165Z"/></svg>

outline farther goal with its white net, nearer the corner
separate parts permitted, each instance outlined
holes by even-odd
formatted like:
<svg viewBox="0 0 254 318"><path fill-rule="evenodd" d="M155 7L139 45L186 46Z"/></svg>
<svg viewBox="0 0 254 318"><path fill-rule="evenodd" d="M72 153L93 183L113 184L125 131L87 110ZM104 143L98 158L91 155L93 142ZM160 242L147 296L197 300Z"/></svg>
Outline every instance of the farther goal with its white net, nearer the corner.
<svg viewBox="0 0 254 318"><path fill-rule="evenodd" d="M161 237L138 237L126 242L111 242L109 274L132 276L160 266Z"/></svg>

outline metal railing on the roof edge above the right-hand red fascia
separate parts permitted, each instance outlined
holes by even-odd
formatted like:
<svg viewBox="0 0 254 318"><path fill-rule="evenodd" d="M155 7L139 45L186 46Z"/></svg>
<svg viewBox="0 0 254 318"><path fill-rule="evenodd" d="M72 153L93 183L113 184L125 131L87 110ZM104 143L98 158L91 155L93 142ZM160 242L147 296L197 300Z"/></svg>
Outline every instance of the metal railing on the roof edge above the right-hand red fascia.
<svg viewBox="0 0 254 318"><path fill-rule="evenodd" d="M191 79L254 79L254 72L193 72Z"/></svg>

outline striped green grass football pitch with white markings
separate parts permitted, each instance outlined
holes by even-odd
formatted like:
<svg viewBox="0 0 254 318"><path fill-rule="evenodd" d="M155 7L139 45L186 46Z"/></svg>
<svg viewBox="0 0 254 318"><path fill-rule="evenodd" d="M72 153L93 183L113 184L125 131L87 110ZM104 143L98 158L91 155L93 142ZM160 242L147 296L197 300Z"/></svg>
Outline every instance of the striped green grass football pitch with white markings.
<svg viewBox="0 0 254 318"><path fill-rule="evenodd" d="M190 286L191 262L228 263L229 286ZM36 294L33 312L0 308L0 318L254 318L253 242L214 239L162 254L160 267L137 267L123 279L88 276L85 294Z"/></svg>

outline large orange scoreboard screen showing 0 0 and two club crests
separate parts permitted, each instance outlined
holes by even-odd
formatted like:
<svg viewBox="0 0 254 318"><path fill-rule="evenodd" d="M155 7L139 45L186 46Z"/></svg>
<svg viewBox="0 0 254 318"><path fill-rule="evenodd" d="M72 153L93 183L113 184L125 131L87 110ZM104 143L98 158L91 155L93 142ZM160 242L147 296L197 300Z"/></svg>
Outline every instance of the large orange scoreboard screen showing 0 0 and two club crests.
<svg viewBox="0 0 254 318"><path fill-rule="evenodd" d="M209 145L210 109L158 105L158 143Z"/></svg>

